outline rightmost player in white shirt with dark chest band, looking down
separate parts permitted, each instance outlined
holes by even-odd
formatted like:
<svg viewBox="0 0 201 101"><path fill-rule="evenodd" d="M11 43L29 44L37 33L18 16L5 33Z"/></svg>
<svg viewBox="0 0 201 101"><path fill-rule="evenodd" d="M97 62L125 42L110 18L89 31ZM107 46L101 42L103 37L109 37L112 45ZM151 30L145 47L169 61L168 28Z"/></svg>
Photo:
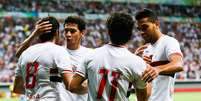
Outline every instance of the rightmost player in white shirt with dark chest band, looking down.
<svg viewBox="0 0 201 101"><path fill-rule="evenodd" d="M152 93L149 101L173 101L174 74L183 70L182 52L178 41L160 31L157 15L144 9L137 12L137 29L147 43L137 49L151 68L147 68L142 79L152 80ZM158 75L159 74L159 75Z"/></svg>

